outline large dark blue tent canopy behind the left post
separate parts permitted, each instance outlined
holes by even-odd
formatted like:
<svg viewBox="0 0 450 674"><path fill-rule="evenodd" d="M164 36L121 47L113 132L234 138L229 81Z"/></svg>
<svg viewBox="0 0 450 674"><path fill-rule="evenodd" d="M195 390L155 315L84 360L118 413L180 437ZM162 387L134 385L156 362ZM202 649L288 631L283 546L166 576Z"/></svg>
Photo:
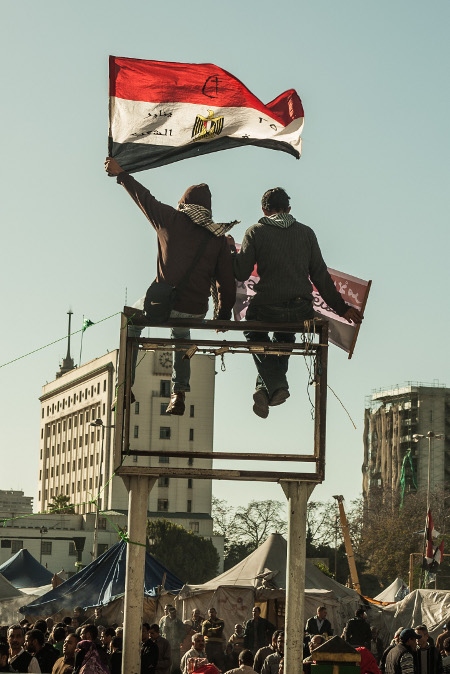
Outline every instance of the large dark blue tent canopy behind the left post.
<svg viewBox="0 0 450 674"><path fill-rule="evenodd" d="M128 545L133 545L129 543ZM104 606L125 592L127 543L120 541L54 590L20 609L27 616L51 616L61 611L72 613L74 606ZM178 592L183 585L153 555L145 557L145 597L155 597L158 587Z"/></svg>

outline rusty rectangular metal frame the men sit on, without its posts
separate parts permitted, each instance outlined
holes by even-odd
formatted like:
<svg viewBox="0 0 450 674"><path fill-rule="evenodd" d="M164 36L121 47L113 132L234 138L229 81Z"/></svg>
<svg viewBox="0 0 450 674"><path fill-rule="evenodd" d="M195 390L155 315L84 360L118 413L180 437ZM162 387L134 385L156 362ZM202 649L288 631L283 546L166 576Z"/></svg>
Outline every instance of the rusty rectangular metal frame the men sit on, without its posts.
<svg viewBox="0 0 450 674"><path fill-rule="evenodd" d="M302 339L294 344L246 342L244 340L217 339L172 339L170 337L129 337L128 325L145 327L189 327L195 330L214 330L216 332L296 332ZM254 354L264 353L270 356L313 356L315 361L315 416L314 446L311 454L261 454L240 452L195 452L195 451L138 451L130 450L130 394L131 394L131 361L133 344L139 342L142 350L184 351L185 357L191 358L195 353L210 353L222 356L225 353ZM114 447L114 465L120 466L116 473L122 477L136 475L147 477L171 476L196 479L255 480L280 482L282 480L307 481L320 483L325 477L325 425L327 395L327 357L328 357L328 322L314 319L305 323L260 323L257 321L200 321L195 319L171 320L161 326L149 326L143 312L131 307L124 307L121 318L121 339L119 351L118 389L116 405L116 433ZM233 462L278 461L297 464L314 464L312 472L286 472L260 470L257 466L252 470L235 468L232 470L219 468L174 468L170 466L128 466L122 465L124 456L158 456L185 457L190 459L206 459L209 461L233 460Z"/></svg>

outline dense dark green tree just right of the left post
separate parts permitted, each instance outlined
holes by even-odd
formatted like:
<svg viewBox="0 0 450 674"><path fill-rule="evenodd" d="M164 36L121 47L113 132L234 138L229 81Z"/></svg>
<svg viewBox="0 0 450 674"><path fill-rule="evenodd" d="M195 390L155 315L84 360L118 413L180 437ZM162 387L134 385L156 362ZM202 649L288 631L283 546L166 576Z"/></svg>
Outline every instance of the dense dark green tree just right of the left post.
<svg viewBox="0 0 450 674"><path fill-rule="evenodd" d="M148 520L148 551L183 583L214 578L219 554L211 540L186 531L165 519Z"/></svg>

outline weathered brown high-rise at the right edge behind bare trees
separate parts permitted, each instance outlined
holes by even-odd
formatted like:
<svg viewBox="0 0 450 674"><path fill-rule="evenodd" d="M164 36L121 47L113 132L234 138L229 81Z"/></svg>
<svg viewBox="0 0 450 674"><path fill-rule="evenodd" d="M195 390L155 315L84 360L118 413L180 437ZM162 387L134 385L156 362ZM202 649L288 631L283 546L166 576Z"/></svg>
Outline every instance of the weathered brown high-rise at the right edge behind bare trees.
<svg viewBox="0 0 450 674"><path fill-rule="evenodd" d="M430 432L436 436L431 450L426 437ZM408 382L374 392L365 410L366 504L374 494L427 491L428 471L432 490L449 484L450 389Z"/></svg>

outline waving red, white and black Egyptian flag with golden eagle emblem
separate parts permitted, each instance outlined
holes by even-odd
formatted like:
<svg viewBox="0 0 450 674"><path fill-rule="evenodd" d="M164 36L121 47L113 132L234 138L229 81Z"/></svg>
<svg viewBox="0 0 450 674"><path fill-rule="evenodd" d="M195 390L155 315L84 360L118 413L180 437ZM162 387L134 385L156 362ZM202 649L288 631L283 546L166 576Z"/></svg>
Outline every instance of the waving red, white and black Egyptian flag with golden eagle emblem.
<svg viewBox="0 0 450 674"><path fill-rule="evenodd" d="M109 59L109 155L129 173L242 145L300 158L294 89L265 105L210 63Z"/></svg>

